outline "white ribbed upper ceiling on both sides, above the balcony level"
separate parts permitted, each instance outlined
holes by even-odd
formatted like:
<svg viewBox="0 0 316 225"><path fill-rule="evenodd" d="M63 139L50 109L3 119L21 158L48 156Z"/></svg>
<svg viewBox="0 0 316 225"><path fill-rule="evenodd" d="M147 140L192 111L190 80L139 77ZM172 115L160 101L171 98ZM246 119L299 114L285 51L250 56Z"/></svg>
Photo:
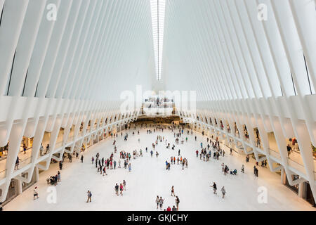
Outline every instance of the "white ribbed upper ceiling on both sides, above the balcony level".
<svg viewBox="0 0 316 225"><path fill-rule="evenodd" d="M1 95L115 101L156 77L204 101L315 94L313 0L0 0L0 12Z"/></svg>

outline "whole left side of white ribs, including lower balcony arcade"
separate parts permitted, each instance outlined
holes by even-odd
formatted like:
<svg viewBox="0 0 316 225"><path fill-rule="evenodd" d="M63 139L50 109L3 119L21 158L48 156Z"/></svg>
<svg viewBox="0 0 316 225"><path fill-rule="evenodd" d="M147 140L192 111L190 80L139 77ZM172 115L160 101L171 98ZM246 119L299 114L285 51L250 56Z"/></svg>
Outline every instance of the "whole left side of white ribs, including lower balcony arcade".
<svg viewBox="0 0 316 225"><path fill-rule="evenodd" d="M56 20L48 20L51 6ZM140 81L151 89L155 72L150 1L1 0L0 9L4 202L11 179L29 183L52 158L60 161L63 153L136 120L135 105L120 111L121 91L133 91ZM33 138L26 159L22 138ZM40 155L47 143L48 153Z"/></svg>

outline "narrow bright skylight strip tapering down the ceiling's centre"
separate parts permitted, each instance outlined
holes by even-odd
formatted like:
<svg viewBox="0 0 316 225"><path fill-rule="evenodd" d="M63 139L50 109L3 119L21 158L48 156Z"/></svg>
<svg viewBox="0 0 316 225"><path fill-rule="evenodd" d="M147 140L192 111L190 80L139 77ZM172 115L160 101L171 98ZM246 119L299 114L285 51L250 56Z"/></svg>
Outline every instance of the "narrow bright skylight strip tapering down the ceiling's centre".
<svg viewBox="0 0 316 225"><path fill-rule="evenodd" d="M156 75L159 80L162 75L162 48L164 46L164 12L166 0L150 0L152 8L152 35L154 38L154 61Z"/></svg>

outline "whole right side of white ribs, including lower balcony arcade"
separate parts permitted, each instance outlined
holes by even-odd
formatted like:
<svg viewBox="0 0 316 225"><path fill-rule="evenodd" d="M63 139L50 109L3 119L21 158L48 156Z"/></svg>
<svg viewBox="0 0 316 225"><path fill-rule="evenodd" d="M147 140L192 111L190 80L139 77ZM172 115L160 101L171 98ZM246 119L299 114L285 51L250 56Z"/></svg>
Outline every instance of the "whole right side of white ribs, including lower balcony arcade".
<svg viewBox="0 0 316 225"><path fill-rule="evenodd" d="M166 1L162 79L197 91L197 115L177 105L183 120L268 160L291 185L308 181L316 199L315 23L315 1Z"/></svg>

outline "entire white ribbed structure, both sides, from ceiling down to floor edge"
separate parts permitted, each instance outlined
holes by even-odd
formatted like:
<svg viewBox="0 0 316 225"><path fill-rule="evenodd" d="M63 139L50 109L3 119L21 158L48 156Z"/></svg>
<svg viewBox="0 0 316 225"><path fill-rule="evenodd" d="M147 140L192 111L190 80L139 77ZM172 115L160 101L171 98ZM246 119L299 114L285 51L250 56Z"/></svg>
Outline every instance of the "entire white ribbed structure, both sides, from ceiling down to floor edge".
<svg viewBox="0 0 316 225"><path fill-rule="evenodd" d="M316 198L315 27L314 0L0 0L0 202L137 120L139 88L196 91L183 121Z"/></svg>

